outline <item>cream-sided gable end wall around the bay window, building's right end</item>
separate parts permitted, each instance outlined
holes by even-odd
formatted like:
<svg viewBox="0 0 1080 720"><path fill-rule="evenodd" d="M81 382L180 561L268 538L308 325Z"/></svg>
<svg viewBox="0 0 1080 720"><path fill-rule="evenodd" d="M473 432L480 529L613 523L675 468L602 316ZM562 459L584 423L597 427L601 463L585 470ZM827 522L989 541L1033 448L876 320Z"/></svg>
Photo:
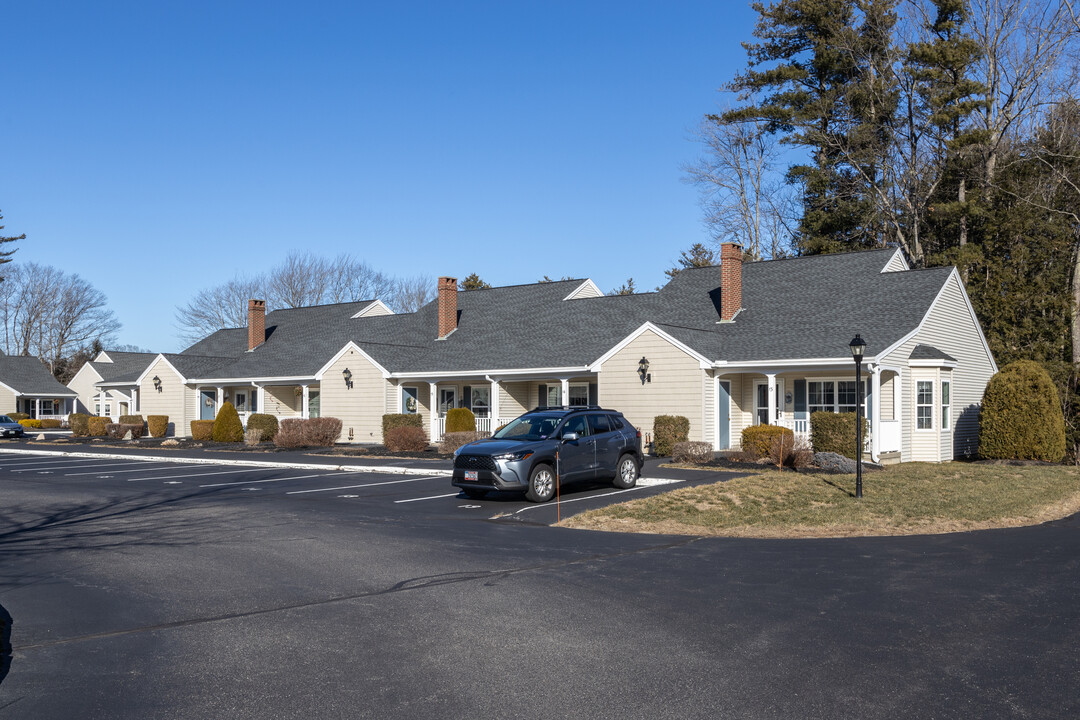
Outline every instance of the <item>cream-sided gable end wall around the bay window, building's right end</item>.
<svg viewBox="0 0 1080 720"><path fill-rule="evenodd" d="M909 340L882 357L886 365L906 366L908 355L917 344L928 344L948 353L957 359L953 370L953 452L944 457L962 457L974 454L978 449L978 409L983 402L986 383L994 375L993 358L983 345L975 322L972 320L966 302L966 294L960 286L959 275L954 273L945 283L937 302L927 314L927 318ZM913 368L919 369L919 368ZM928 369L928 368L921 368ZM941 392L940 384L935 395ZM912 373L904 373L903 398L903 453L902 460L910 460L912 437L915 427L914 415L915 385ZM940 397L935 397L941 402ZM939 418L940 420L940 418ZM935 421L935 426L937 426Z"/></svg>

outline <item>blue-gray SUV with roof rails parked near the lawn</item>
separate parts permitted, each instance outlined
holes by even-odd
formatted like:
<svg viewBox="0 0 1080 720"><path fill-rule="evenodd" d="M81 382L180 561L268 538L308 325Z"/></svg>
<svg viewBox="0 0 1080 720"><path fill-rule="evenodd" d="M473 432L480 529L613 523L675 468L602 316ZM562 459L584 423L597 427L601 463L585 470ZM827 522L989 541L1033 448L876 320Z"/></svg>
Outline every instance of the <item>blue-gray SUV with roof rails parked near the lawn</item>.
<svg viewBox="0 0 1080 720"><path fill-rule="evenodd" d="M538 407L459 448L453 485L470 498L510 490L546 502L567 483L611 478L617 488L632 488L644 462L642 433L621 412Z"/></svg>

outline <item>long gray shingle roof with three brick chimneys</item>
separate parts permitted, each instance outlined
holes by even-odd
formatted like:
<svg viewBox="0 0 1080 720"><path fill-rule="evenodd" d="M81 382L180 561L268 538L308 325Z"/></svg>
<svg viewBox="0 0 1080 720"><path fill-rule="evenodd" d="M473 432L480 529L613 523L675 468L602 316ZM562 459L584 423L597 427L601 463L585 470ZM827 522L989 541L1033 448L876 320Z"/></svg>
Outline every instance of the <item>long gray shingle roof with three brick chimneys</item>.
<svg viewBox="0 0 1080 720"><path fill-rule="evenodd" d="M437 340L437 300L415 313L352 318L370 301L276 310L266 342L219 330L179 355L198 379L311 377L349 341L391 372L470 372L592 364L646 322L713 361L873 356L914 330L951 268L881 273L894 250L743 266L743 310L719 323L720 269L687 269L656 293L566 300L581 280L458 294L458 328ZM207 352L218 349L217 352ZM193 355L199 355L195 362ZM208 356L207 356L208 355Z"/></svg>

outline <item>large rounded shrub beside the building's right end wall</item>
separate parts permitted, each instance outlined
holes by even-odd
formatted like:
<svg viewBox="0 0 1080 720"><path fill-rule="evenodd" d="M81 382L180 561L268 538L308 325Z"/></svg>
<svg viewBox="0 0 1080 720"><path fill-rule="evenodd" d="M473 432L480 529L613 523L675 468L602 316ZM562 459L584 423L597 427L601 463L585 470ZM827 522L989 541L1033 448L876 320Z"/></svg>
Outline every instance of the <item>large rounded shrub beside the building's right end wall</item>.
<svg viewBox="0 0 1080 720"><path fill-rule="evenodd" d="M1017 361L990 378L978 412L978 454L1008 460L1061 462L1065 418L1050 373Z"/></svg>

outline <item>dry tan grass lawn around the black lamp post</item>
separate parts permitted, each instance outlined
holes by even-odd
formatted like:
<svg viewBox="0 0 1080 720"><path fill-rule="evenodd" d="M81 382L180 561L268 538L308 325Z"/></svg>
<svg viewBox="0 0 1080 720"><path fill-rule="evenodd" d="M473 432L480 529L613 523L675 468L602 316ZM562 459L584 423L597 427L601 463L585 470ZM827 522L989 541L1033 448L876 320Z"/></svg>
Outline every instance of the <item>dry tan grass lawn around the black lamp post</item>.
<svg viewBox="0 0 1080 720"><path fill-rule="evenodd" d="M766 472L576 515L564 527L745 538L838 538L1036 525L1080 512L1080 467L905 463L854 475Z"/></svg>

